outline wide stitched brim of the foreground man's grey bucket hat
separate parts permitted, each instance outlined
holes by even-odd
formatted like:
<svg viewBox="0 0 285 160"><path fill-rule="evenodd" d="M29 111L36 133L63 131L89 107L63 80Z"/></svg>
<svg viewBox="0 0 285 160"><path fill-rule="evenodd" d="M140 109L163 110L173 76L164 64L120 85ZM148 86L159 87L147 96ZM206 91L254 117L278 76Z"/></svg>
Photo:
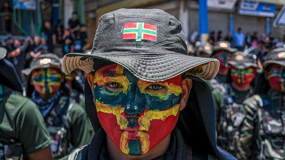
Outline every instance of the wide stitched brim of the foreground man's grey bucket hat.
<svg viewBox="0 0 285 160"><path fill-rule="evenodd" d="M220 63L217 59L192 57L178 53L167 54L118 54L69 53L62 59L65 74L79 68L86 73L94 71L93 58L105 59L124 66L136 77L146 81L166 80L186 73L205 80L213 79L218 73Z"/></svg>

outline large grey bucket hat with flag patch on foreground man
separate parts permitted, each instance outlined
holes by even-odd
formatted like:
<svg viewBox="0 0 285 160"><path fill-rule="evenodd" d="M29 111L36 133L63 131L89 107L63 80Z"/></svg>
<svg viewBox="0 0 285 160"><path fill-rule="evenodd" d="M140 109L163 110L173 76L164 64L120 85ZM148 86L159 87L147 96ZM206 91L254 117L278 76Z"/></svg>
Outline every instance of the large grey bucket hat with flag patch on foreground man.
<svg viewBox="0 0 285 160"><path fill-rule="evenodd" d="M159 9L119 9L99 20L91 54L63 57L65 74L79 68L94 71L93 59L120 64L136 77L159 81L181 73L211 80L219 69L216 59L187 56L180 22Z"/></svg>

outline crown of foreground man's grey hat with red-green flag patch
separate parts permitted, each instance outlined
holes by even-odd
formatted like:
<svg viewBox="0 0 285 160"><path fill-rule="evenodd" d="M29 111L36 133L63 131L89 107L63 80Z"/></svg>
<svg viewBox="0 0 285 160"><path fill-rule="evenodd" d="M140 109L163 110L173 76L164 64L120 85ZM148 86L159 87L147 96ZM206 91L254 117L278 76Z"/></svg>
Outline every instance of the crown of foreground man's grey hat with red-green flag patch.
<svg viewBox="0 0 285 160"><path fill-rule="evenodd" d="M94 52L187 55L187 46L181 24L173 15L159 9L119 9L100 18Z"/></svg>

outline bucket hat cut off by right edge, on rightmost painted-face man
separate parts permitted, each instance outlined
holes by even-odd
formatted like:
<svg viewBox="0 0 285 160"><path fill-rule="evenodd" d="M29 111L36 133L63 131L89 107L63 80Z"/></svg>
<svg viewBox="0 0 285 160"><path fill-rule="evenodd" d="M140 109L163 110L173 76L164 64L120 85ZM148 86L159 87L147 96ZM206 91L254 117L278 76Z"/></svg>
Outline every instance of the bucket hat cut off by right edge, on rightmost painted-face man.
<svg viewBox="0 0 285 160"><path fill-rule="evenodd" d="M285 67L285 48L275 48L267 54L266 61L263 62L263 68L270 64L279 64Z"/></svg>

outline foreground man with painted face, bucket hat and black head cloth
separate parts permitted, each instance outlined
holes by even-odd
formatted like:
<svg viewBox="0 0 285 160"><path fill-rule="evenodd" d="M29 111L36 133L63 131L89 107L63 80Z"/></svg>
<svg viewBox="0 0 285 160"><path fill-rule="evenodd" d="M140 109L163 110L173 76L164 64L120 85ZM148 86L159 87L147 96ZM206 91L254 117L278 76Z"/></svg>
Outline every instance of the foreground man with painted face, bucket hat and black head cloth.
<svg viewBox="0 0 285 160"><path fill-rule="evenodd" d="M152 18L150 18L152 17ZM95 135L65 159L231 159L216 147L211 91L216 59L187 56L180 22L163 10L100 18L91 54L63 57L89 73L85 104ZM198 98L199 97L199 98Z"/></svg>

